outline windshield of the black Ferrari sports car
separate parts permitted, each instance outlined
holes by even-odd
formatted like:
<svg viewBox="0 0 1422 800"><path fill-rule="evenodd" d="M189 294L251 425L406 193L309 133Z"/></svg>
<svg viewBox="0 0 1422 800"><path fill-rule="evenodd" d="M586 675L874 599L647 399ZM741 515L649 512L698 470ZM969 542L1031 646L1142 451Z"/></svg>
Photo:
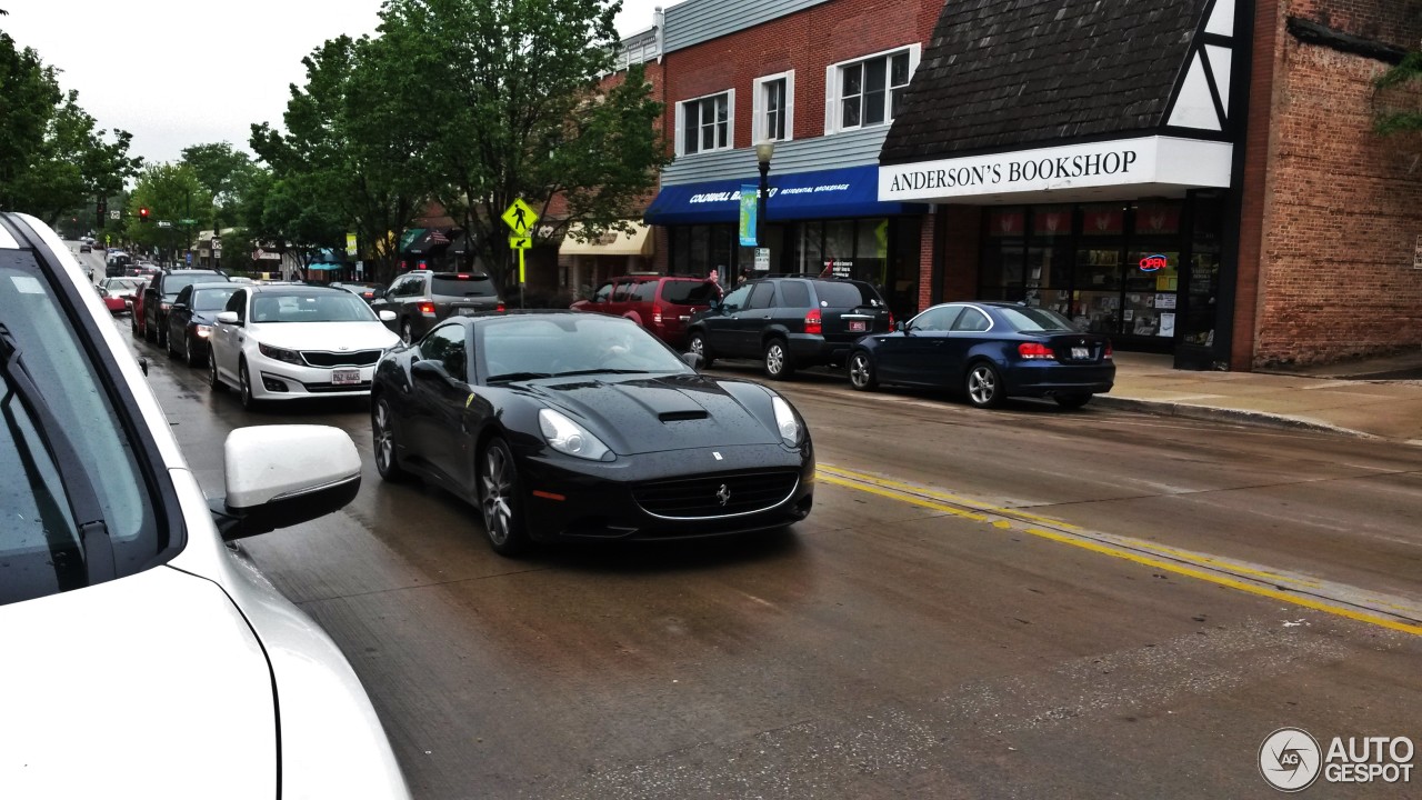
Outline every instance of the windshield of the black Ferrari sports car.
<svg viewBox="0 0 1422 800"><path fill-rule="evenodd" d="M691 372L637 323L599 315L508 316L478 326L488 380Z"/></svg>

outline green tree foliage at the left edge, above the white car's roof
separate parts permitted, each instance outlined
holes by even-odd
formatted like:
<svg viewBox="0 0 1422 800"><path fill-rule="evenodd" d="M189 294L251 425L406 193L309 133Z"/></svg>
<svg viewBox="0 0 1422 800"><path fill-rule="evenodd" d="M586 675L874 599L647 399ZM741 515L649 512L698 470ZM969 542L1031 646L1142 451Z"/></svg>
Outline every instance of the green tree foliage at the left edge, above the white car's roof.
<svg viewBox="0 0 1422 800"><path fill-rule="evenodd" d="M122 189L141 158L127 131L97 130L33 48L0 33L0 208L54 225L61 215Z"/></svg>

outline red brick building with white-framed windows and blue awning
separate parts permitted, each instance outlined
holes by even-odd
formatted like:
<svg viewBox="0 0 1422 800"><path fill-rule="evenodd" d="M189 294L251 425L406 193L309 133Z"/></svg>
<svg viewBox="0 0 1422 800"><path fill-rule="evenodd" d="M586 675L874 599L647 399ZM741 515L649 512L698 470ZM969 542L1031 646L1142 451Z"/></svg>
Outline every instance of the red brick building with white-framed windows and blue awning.
<svg viewBox="0 0 1422 800"><path fill-rule="evenodd" d="M912 312L927 208L880 201L877 162L941 9L943 0L668 7L663 101L675 161L646 214L656 268L722 279L757 268L738 229L741 194L758 194L755 144L772 140L761 268L869 279L896 310Z"/></svg>

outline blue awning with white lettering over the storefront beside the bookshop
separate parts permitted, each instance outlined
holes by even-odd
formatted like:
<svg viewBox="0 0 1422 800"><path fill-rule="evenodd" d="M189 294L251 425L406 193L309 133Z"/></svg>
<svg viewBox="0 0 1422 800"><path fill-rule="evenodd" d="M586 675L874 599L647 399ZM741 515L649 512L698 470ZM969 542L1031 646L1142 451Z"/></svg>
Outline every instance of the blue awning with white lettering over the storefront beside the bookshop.
<svg viewBox="0 0 1422 800"><path fill-rule="evenodd" d="M759 175L754 175L745 179L663 186L643 219L648 225L734 223L741 215L741 186L757 185L759 181ZM769 189L765 201L766 222L896 216L929 211L923 204L879 202L879 168L875 165L789 175L771 172Z"/></svg>

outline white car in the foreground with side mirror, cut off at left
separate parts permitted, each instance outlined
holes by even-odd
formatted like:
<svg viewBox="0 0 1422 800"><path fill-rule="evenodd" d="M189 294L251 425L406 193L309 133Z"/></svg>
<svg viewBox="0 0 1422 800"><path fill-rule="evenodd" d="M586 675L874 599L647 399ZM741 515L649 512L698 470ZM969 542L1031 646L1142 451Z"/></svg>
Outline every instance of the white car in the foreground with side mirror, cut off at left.
<svg viewBox="0 0 1422 800"><path fill-rule="evenodd" d="M0 317L4 796L408 797L340 649L228 547L354 498L350 436L233 430L225 493L205 497L74 255L31 216L0 214Z"/></svg>

